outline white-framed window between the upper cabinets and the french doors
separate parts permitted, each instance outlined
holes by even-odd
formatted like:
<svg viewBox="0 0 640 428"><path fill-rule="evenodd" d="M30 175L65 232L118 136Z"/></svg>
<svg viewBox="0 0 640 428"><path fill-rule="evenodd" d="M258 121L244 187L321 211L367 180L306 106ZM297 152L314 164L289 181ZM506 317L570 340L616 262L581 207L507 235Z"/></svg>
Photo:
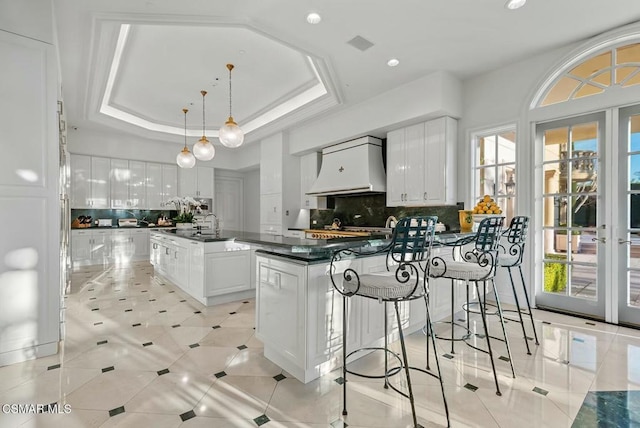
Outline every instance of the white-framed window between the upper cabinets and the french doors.
<svg viewBox="0 0 640 428"><path fill-rule="evenodd" d="M516 207L516 131L476 134L474 138L474 202L491 196L502 209L506 224Z"/></svg>

